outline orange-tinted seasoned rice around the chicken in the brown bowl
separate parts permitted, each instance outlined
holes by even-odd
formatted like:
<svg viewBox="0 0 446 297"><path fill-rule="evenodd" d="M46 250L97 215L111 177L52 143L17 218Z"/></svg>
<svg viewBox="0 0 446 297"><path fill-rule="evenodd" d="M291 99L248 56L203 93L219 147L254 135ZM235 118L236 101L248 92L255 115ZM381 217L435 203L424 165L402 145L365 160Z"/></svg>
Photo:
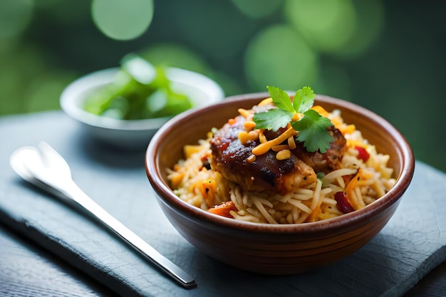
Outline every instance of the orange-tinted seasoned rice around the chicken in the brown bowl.
<svg viewBox="0 0 446 297"><path fill-rule="evenodd" d="M318 176L316 182L292 192L271 194L247 192L222 174L203 165L212 157L209 133L198 145L185 147L185 159L168 171L171 187L180 199L204 210L231 201L234 219L264 224L300 224L338 217L343 214L336 193L343 192L354 210L361 209L382 197L395 184L388 155L378 153L354 125L343 122L339 110L327 113L333 125L346 138L346 150L340 168ZM368 152L365 162L357 147Z"/></svg>

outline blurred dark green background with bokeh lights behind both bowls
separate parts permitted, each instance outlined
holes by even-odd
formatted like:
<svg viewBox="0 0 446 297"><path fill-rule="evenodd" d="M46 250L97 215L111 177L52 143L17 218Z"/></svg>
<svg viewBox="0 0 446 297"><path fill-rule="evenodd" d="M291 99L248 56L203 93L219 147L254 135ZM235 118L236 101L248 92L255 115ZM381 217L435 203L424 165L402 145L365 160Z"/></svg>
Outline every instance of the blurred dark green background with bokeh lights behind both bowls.
<svg viewBox="0 0 446 297"><path fill-rule="evenodd" d="M58 110L72 80L137 52L227 95L266 85L363 105L446 171L445 1L1 0L0 115Z"/></svg>

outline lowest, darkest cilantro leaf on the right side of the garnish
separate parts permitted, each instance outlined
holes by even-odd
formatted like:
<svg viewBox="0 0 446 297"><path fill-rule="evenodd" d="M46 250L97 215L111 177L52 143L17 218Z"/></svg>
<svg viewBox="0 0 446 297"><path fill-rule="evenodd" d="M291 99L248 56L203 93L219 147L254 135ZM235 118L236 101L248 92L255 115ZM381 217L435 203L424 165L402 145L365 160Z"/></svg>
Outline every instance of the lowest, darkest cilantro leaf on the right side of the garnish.
<svg viewBox="0 0 446 297"><path fill-rule="evenodd" d="M327 127L332 125L331 120L319 115L316 110L307 110L301 120L291 123L294 130L299 131L297 140L304 142L308 152L319 150L323 154L333 142L333 136L327 131Z"/></svg>

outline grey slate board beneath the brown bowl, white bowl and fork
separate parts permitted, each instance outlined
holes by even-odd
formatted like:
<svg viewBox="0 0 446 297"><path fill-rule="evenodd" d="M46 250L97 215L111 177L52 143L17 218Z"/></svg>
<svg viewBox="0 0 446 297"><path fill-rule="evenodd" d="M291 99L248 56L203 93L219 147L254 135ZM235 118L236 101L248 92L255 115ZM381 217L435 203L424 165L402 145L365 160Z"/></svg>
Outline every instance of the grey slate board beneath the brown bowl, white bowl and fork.
<svg viewBox="0 0 446 297"><path fill-rule="evenodd" d="M197 288L178 286L102 226L22 182L9 156L41 140L66 158L90 197L195 277ZM240 271L197 251L160 212L143 164L144 152L88 140L61 112L0 118L0 222L122 296L402 296L446 260L446 175L422 162L372 241L336 264L291 276Z"/></svg>

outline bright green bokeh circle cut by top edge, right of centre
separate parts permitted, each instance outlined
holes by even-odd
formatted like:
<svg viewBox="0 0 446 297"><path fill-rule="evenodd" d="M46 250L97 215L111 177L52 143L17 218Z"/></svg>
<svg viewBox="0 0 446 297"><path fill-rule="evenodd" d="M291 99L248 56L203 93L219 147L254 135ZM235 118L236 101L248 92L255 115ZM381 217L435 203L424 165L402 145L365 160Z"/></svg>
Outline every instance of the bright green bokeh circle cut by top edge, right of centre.
<svg viewBox="0 0 446 297"><path fill-rule="evenodd" d="M313 48L326 53L343 48L356 27L351 0L287 0L284 12Z"/></svg>

